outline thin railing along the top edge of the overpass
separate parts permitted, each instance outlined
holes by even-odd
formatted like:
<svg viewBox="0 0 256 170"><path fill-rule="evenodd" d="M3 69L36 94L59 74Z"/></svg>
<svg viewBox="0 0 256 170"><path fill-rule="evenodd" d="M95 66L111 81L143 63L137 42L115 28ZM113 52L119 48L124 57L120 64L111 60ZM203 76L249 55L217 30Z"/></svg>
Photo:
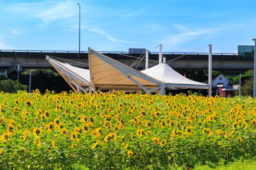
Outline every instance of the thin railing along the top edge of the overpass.
<svg viewBox="0 0 256 170"><path fill-rule="evenodd" d="M0 52L53 52L53 53L78 53L79 51L54 51L54 50L0 50ZM118 53L118 54L129 54L126 51L98 51L100 53ZM80 53L88 53L88 51L80 51ZM159 52L150 52L151 54L158 54ZM183 54L183 55L208 55L208 52L162 52L162 54ZM237 55L237 53L212 53L212 55Z"/></svg>

